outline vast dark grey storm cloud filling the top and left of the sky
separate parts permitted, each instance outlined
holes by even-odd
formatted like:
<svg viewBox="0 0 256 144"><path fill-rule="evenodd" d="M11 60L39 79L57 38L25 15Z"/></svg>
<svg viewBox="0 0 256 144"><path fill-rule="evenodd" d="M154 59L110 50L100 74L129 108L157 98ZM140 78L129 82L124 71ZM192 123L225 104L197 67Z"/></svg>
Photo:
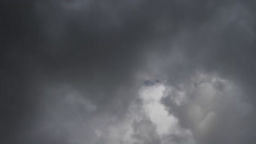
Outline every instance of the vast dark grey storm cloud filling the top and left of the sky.
<svg viewBox="0 0 256 144"><path fill-rule="evenodd" d="M105 139L92 138L97 137L95 125L103 122L91 121L103 119L102 115L121 119L143 83L144 77L138 77L141 71L155 80L165 78L172 86L186 83L197 70L217 73L240 87L241 101L255 105L253 1L1 1L0 5L4 143L71 143L80 133L84 143L104 143ZM156 59L148 59L150 53ZM148 62L152 62L149 68ZM225 101L232 104L217 111L224 116L216 120L220 125L235 115L226 113L240 111L234 106L240 100ZM172 107L168 101L164 104ZM193 131L184 119L191 105L195 103L177 109L176 115L183 127ZM241 119L234 125L245 126L213 128L203 136L194 130L199 135L196 142L229 143L235 135L237 143L254 143L255 113L246 121L243 112L238 113ZM67 126L70 123L73 126ZM249 126L246 135L236 133ZM79 128L87 131L79 133ZM160 141L156 137L151 142Z"/></svg>

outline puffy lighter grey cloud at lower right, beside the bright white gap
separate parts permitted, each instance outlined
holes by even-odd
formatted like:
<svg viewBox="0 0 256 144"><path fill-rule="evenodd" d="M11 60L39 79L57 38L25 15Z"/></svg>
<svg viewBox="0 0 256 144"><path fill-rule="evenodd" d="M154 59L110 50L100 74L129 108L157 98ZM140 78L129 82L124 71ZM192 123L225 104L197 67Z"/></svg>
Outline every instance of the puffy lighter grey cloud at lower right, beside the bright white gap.
<svg viewBox="0 0 256 144"><path fill-rule="evenodd" d="M180 92L185 99L177 104ZM191 80L166 94L162 103L182 127L192 131L197 143L253 143L254 108L231 83L214 78L199 83Z"/></svg>

